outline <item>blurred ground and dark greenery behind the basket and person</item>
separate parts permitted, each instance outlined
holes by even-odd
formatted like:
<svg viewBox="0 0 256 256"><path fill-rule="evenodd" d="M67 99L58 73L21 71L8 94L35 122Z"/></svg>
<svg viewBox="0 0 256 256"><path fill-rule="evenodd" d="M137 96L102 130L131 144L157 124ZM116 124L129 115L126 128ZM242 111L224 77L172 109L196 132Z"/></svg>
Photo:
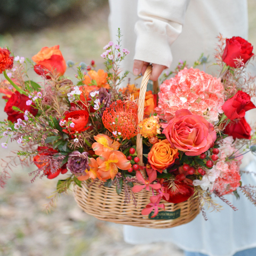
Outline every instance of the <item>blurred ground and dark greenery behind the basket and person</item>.
<svg viewBox="0 0 256 256"><path fill-rule="evenodd" d="M248 2L249 42L256 46L256 1ZM108 13L107 0L2 0L0 47L8 46L15 55L31 58L43 46L59 44L66 60L90 63L93 59L102 68L100 54L109 41ZM68 76L74 74L74 70L67 70ZM6 117L4 105L1 99L1 120ZM7 150L1 147L0 158L7 157L15 147L16 143ZM54 191L56 181L31 183L29 171L13 169L6 188L0 188L0 256L183 255L170 243L124 243L122 225L99 221L82 212L72 193L61 196L57 208L47 214L46 197Z"/></svg>

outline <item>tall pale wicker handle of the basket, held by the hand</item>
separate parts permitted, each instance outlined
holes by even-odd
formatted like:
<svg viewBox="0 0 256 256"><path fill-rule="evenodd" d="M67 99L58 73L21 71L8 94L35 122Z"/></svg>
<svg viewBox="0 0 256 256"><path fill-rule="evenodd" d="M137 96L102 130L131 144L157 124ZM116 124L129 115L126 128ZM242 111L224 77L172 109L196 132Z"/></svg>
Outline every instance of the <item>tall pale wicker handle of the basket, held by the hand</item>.
<svg viewBox="0 0 256 256"><path fill-rule="evenodd" d="M151 71L152 71L152 66L149 65L145 71L145 74L142 78L142 82L140 85L140 95L139 95L139 102L138 102L138 124L143 120L143 116L144 116L145 95L146 95L147 85L148 85ZM143 161L142 161L143 147L142 147L142 137L141 137L140 133L137 134L136 149L137 149L137 155L140 158L139 165L143 165ZM145 169L141 170L140 172L141 172L143 178L147 177Z"/></svg>

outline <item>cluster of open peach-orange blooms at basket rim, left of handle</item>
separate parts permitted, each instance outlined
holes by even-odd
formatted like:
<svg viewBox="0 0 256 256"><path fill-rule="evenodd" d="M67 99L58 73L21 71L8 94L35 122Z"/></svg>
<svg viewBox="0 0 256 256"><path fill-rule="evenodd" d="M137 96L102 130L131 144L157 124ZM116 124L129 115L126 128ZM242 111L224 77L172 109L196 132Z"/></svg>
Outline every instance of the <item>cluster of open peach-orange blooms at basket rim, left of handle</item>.
<svg viewBox="0 0 256 256"><path fill-rule="evenodd" d="M126 156L118 151L121 145L118 141L110 139L105 134L98 134L94 136L97 142L94 142L92 149L99 157L89 159L90 171L85 170L86 175L79 176L79 180L87 180L89 178L98 178L102 181L108 179L114 180L118 169L128 170L131 168L131 162L127 160Z"/></svg>

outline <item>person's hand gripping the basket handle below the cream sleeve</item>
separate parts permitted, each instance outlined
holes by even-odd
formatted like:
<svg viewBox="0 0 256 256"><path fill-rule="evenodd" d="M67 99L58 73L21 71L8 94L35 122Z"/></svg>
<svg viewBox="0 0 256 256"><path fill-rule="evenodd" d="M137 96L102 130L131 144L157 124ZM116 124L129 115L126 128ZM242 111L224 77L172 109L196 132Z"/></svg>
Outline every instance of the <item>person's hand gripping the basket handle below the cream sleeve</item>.
<svg viewBox="0 0 256 256"><path fill-rule="evenodd" d="M147 66L149 65L149 62L142 61L142 60L134 60L133 62L133 74L135 76L138 76L140 73L144 75ZM159 65L159 64L151 64L152 65L152 72L149 77L152 81L157 81L158 77L161 75L164 69L166 69L166 66Z"/></svg>

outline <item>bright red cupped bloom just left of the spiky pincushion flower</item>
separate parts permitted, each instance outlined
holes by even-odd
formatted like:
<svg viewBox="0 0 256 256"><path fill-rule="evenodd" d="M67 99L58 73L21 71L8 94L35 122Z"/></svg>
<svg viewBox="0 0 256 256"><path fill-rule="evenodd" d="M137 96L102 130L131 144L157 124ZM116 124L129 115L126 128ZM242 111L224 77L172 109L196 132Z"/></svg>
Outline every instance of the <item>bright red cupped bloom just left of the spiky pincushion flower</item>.
<svg viewBox="0 0 256 256"><path fill-rule="evenodd" d="M86 110L71 111L66 114L65 121L69 124L67 129L64 129L63 132L69 134L83 132L89 128L86 127L89 121L89 113Z"/></svg>

